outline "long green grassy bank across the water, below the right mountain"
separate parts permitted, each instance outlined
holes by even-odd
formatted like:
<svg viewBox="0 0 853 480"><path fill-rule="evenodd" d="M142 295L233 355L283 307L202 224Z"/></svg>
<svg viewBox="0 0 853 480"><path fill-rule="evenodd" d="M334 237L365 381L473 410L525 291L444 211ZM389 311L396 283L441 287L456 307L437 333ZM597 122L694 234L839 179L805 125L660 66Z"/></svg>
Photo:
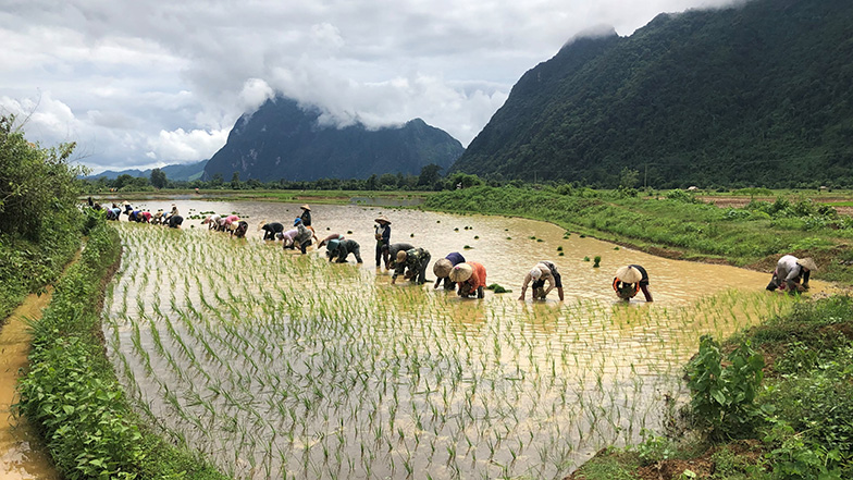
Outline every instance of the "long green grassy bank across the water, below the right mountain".
<svg viewBox="0 0 853 480"><path fill-rule="evenodd" d="M772 270L780 255L814 257L815 278L853 282L853 220L811 200L719 208L675 190L656 198L591 189L479 186L442 192L423 208L544 220L669 258Z"/></svg>

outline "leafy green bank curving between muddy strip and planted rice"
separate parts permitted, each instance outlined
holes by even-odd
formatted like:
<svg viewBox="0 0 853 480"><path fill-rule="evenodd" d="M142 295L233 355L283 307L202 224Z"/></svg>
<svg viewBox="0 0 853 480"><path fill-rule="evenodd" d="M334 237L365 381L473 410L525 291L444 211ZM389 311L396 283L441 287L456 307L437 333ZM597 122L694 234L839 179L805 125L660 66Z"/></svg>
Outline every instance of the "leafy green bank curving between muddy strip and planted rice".
<svg viewBox="0 0 853 480"><path fill-rule="evenodd" d="M18 408L40 430L64 478L224 478L139 427L104 356L99 279L119 249L115 231L97 222L81 260L58 282L50 306L33 325Z"/></svg>

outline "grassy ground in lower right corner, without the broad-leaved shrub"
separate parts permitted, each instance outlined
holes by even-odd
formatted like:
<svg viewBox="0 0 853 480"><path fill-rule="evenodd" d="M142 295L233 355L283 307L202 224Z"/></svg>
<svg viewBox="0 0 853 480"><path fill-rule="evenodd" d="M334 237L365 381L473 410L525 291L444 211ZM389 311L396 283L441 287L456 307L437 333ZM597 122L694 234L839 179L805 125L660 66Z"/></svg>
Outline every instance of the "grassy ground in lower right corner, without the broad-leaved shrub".
<svg viewBox="0 0 853 480"><path fill-rule="evenodd" d="M750 342L767 362L764 389L756 399L763 415L746 439L708 442L682 435L673 456L680 466L705 464L714 479L850 478L853 475L853 298L836 296L798 303L788 313L730 337L724 348ZM641 467L667 463L632 456L650 441L628 451L602 453L572 478L657 478ZM675 461L672 461L675 463ZM625 477L632 478L632 477ZM700 477L707 478L707 477Z"/></svg>

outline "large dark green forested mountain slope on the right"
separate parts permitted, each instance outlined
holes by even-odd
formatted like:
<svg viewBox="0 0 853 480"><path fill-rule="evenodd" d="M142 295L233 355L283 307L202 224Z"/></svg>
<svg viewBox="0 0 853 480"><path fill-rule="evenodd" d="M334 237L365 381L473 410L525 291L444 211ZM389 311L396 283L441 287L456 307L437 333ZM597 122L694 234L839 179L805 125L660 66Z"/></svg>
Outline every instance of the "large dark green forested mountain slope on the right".
<svg viewBox="0 0 853 480"><path fill-rule="evenodd" d="M577 38L528 71L452 171L640 184L851 184L853 2L752 0Z"/></svg>

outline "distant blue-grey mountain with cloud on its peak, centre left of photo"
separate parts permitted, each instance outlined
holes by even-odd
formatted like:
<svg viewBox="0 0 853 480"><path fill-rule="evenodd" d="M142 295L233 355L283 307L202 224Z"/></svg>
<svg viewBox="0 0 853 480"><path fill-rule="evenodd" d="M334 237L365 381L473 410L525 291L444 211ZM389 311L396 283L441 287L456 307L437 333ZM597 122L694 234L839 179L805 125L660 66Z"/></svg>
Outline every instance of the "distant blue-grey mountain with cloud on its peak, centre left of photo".
<svg viewBox="0 0 853 480"><path fill-rule="evenodd" d="M205 168L205 179L311 181L367 179L372 174L419 174L435 163L447 169L462 153L462 145L420 119L401 127L369 130L362 124L324 126L321 111L300 108L292 99L268 100L240 116L228 140Z"/></svg>

